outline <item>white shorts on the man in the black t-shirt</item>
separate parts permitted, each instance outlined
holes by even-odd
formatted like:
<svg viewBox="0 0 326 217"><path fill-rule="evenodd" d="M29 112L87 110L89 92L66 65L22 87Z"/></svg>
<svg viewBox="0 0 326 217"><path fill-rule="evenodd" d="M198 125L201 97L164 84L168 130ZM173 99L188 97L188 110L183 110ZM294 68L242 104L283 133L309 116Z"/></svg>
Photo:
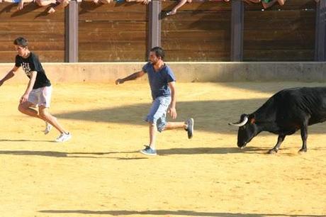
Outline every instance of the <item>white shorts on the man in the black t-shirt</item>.
<svg viewBox="0 0 326 217"><path fill-rule="evenodd" d="M33 89L30 91L28 100L34 106L45 106L45 108L50 108L52 95L52 86L50 87L40 87L38 89Z"/></svg>

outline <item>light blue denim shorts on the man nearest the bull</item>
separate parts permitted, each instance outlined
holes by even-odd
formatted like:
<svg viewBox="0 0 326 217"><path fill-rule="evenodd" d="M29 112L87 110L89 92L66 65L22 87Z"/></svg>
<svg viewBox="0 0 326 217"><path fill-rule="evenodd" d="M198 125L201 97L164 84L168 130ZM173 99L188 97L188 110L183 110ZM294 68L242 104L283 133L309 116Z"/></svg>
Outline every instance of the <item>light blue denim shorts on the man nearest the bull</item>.
<svg viewBox="0 0 326 217"><path fill-rule="evenodd" d="M162 132L167 125L167 109L171 103L171 96L159 96L154 99L150 113L145 121L156 125L157 131Z"/></svg>

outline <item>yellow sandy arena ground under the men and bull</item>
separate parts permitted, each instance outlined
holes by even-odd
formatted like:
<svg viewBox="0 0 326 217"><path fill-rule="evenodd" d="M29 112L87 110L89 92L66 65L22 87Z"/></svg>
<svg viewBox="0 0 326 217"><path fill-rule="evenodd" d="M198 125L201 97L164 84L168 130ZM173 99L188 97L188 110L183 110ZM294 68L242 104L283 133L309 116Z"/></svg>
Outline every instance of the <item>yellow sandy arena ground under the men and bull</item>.
<svg viewBox="0 0 326 217"><path fill-rule="evenodd" d="M159 156L142 121L147 83L55 84L52 113L73 139L52 143L54 129L17 111L26 85L0 87L0 216L326 216L326 123L310 127L308 152L300 133L276 155L276 135L236 146L241 113L258 109L284 87L300 83L177 84L177 121L193 116L196 134L167 131Z"/></svg>

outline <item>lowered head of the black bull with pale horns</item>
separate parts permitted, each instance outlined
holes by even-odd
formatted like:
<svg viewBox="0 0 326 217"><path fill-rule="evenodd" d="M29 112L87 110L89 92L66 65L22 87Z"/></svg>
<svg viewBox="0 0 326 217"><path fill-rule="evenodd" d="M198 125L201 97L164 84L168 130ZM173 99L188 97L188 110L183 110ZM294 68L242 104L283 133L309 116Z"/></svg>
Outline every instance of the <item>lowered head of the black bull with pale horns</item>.
<svg viewBox="0 0 326 217"><path fill-rule="evenodd" d="M242 114L240 121L237 123L229 123L229 125L239 127L237 131L237 147L239 148L245 148L247 143L259 133L254 114Z"/></svg>

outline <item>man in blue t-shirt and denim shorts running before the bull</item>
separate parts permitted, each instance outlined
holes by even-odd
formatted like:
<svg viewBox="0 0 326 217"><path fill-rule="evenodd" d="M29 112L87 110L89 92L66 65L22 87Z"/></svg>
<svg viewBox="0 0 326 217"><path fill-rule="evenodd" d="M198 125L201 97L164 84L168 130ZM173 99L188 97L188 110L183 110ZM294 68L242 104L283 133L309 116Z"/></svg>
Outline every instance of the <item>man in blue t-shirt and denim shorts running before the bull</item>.
<svg viewBox="0 0 326 217"><path fill-rule="evenodd" d="M152 91L152 107L148 113L147 121L150 124L150 144L145 145L145 149L140 150L145 155L157 155L155 140L157 130L172 130L184 128L188 133L188 138L193 137L193 118L185 122L167 122L167 112L175 119L176 114L176 79L172 69L164 63L164 50L159 47L150 50L150 60L142 67L142 71L130 74L123 79L117 79L116 84L137 79L147 73Z"/></svg>

